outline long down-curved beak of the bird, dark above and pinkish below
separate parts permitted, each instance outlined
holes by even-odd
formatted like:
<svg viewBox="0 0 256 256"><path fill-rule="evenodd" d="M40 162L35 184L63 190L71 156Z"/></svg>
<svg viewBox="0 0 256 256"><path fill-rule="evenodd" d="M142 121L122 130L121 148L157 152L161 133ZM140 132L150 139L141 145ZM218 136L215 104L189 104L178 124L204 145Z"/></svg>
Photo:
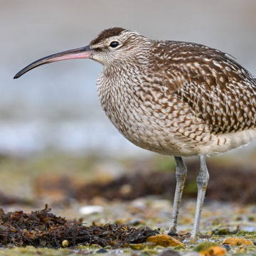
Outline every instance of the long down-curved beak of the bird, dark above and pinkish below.
<svg viewBox="0 0 256 256"><path fill-rule="evenodd" d="M21 75L27 73L29 70L36 68L40 65L52 63L59 60L70 60L75 58L90 58L92 53L93 53L93 50L90 49L90 46L76 48L73 50L65 50L61 53L55 53L45 58L36 60L33 63L27 65L26 68L23 68L16 75L14 75L14 79L19 78Z"/></svg>

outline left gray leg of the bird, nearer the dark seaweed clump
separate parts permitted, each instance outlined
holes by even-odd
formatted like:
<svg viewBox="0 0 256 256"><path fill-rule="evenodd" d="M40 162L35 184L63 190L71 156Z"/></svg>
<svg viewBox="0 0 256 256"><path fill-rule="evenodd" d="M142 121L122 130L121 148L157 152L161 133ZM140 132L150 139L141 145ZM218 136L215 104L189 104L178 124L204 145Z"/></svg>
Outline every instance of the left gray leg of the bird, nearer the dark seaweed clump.
<svg viewBox="0 0 256 256"><path fill-rule="evenodd" d="M171 226L168 230L169 235L176 235L176 225L178 218L178 210L181 204L181 196L186 180L187 168L181 157L174 156L176 161L176 190L174 196L174 207L171 215Z"/></svg>

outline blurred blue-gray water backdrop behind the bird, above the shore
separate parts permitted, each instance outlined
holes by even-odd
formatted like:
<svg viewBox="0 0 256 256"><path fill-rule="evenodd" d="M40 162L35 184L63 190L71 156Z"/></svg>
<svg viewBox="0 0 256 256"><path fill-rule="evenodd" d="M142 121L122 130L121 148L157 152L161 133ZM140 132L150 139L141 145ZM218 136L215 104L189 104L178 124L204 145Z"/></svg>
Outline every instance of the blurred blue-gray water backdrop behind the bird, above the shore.
<svg viewBox="0 0 256 256"><path fill-rule="evenodd" d="M34 60L86 46L112 26L203 43L256 74L255 0L0 0L1 154L147 154L102 112L95 87L100 64L67 60L12 79Z"/></svg>

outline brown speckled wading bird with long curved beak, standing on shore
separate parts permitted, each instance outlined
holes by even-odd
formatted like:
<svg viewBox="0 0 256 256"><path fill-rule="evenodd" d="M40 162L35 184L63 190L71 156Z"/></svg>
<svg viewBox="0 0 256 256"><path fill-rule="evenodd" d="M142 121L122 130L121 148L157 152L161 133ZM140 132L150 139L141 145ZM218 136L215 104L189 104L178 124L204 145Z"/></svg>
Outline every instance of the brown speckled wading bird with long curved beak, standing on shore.
<svg viewBox="0 0 256 256"><path fill-rule="evenodd" d="M125 138L143 149L174 156L176 191L169 235L178 234L187 173L183 157L198 156L198 196L190 237L196 242L209 180L206 156L235 149L256 137L255 76L215 48L152 40L137 31L112 27L88 46L36 60L14 78L46 63L74 58L102 64L97 96Z"/></svg>

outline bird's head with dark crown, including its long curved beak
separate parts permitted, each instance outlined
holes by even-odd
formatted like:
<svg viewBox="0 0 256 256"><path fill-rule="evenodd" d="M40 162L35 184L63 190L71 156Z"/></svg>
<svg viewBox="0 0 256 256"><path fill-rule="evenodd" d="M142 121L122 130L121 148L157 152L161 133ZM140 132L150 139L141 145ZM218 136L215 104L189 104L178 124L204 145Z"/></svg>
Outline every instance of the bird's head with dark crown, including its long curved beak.
<svg viewBox="0 0 256 256"><path fill-rule="evenodd" d="M36 60L19 71L14 78L19 78L24 73L40 65L59 60L90 58L104 66L133 60L144 61L144 55L150 46L151 41L136 31L117 27L108 28L96 36L89 46L66 50Z"/></svg>

